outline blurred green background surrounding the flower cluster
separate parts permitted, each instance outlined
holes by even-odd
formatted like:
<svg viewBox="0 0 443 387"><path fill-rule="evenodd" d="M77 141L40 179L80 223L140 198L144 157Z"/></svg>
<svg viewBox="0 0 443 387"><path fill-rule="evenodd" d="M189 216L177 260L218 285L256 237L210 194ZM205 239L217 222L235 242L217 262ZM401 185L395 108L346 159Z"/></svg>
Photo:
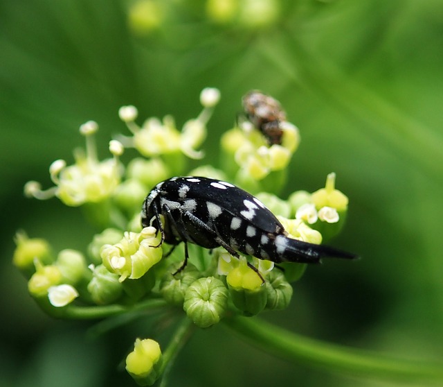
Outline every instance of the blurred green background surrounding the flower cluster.
<svg viewBox="0 0 443 387"><path fill-rule="evenodd" d="M110 137L127 133L118 107L181 124L207 86L221 90L208 161L241 96L262 89L302 136L282 197L334 171L350 198L334 245L363 258L310 267L291 307L265 317L325 341L442 359L443 1L263 3L275 14L217 22L206 1L151 2L143 30L130 28L129 1L0 0L0 386L135 385L119 363L150 327L91 338L91 323L44 316L10 264L19 228L59 249L84 249L93 232L79 209L28 200L23 185L51 185L48 166L72 161L85 121L99 123L107 157ZM287 363L221 325L198 330L172 374L170 386L389 385Z"/></svg>

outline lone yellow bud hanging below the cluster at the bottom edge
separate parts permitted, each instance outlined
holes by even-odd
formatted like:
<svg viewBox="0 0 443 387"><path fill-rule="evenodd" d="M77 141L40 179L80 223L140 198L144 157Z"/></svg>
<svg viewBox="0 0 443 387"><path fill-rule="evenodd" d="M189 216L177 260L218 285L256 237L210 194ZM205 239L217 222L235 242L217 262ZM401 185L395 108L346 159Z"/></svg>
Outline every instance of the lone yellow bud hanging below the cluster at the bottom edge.
<svg viewBox="0 0 443 387"><path fill-rule="evenodd" d="M134 351L127 355L126 370L138 386L152 386L159 379L163 357L159 343L136 339Z"/></svg>

